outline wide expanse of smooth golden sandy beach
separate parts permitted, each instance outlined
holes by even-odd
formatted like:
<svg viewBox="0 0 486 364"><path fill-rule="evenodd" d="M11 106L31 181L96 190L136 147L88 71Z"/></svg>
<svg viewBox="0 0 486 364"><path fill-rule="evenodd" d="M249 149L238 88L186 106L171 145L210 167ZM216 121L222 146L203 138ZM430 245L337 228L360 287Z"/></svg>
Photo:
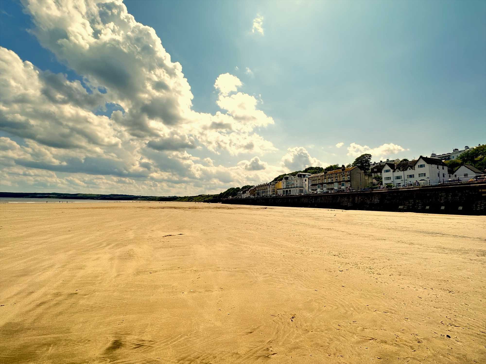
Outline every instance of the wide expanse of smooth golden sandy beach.
<svg viewBox="0 0 486 364"><path fill-rule="evenodd" d="M1 363L485 363L485 216L1 204Z"/></svg>

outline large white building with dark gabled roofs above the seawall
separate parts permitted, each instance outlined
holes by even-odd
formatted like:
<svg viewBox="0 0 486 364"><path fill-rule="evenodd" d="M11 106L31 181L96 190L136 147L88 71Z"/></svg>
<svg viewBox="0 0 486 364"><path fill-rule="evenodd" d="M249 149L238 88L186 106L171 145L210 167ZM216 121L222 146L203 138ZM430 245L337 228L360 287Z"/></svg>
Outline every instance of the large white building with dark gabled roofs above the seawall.
<svg viewBox="0 0 486 364"><path fill-rule="evenodd" d="M382 169L383 184L392 183L394 186L406 186L417 182L432 185L450 177L444 162L422 156L403 166L386 163Z"/></svg>

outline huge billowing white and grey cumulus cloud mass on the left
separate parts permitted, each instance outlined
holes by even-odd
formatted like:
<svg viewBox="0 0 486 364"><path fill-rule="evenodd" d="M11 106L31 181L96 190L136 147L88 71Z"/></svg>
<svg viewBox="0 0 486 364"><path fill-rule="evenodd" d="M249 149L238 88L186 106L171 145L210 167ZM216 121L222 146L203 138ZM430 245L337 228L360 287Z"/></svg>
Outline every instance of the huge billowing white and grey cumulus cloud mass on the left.
<svg viewBox="0 0 486 364"><path fill-rule="evenodd" d="M2 185L187 195L281 173L281 166L258 157L228 167L204 155L275 151L254 130L273 118L259 109L259 99L237 93L242 82L229 73L215 75L221 111L192 110L182 66L122 1L22 4L34 24L31 33L83 84L0 48ZM108 103L117 110L106 113ZM202 157L187 152L192 149Z"/></svg>

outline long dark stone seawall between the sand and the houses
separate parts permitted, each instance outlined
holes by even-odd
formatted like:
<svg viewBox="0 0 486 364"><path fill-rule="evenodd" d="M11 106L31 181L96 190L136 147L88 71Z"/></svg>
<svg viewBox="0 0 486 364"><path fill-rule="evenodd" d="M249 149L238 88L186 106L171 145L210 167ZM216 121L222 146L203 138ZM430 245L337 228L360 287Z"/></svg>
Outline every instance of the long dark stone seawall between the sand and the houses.
<svg viewBox="0 0 486 364"><path fill-rule="evenodd" d="M224 199L221 202L260 206L486 215L486 184Z"/></svg>

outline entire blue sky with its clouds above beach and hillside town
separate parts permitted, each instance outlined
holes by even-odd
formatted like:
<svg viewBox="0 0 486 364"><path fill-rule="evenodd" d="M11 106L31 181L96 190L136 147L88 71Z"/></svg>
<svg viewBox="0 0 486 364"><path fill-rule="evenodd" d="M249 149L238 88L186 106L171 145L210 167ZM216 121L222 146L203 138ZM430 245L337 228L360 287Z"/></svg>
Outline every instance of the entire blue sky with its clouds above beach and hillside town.
<svg viewBox="0 0 486 364"><path fill-rule="evenodd" d="M217 192L306 165L346 164L367 151L375 160L411 159L485 143L484 1L124 1L117 13L121 18L112 24L119 26L130 14L155 35L125 40L125 33L111 29L116 36L100 49L112 53L99 58L91 53L92 40L79 41L73 29L82 29L85 20L93 29L110 29L103 17L107 5L89 13L47 4L0 2L0 46L20 59L12 56L9 62L29 61L41 71L34 100L76 88L76 80L93 98L81 105L79 99L88 96L71 90L62 105L81 107L77 118L65 121L66 113L77 110L66 109L54 117L54 125L20 113L22 128L31 132L18 131L20 119L14 115L23 109L7 105L0 123L8 147L2 191ZM93 11L102 15L101 23L90 20ZM261 32L253 28L256 18ZM167 80L171 93L161 91L165 96L147 95L144 84L137 84L142 76L162 77L150 74L160 62L151 64L143 51L144 44L156 47L156 38L170 54L170 66L182 67ZM147 58L132 59L134 49ZM5 67L11 69L7 62ZM110 79L102 68L105 74L121 73ZM241 83L227 94L215 88L226 73ZM62 90L46 91L51 74L63 75ZM115 82L120 75L133 80L121 88ZM97 89L107 92L103 96ZM2 96L15 99L16 92L22 93L9 83ZM50 100L52 108L40 114L55 113L59 101ZM89 113L106 119L93 121ZM37 128L44 122L54 134L59 128L57 137L70 136L60 142L56 135L43 135ZM213 122L232 127L214 129ZM89 128L79 132L83 123ZM90 160L106 166L107 173L88 167Z"/></svg>

